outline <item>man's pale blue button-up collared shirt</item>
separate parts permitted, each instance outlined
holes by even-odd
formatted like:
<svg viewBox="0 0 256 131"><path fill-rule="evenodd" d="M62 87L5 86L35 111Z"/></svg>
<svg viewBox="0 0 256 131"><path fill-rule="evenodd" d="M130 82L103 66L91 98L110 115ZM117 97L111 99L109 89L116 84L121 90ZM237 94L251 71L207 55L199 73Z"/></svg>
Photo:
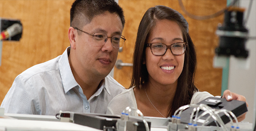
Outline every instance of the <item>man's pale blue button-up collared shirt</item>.
<svg viewBox="0 0 256 131"><path fill-rule="evenodd" d="M125 88L107 76L87 100L72 74L69 50L19 74L1 104L5 113L56 115L61 110L106 114L111 99Z"/></svg>

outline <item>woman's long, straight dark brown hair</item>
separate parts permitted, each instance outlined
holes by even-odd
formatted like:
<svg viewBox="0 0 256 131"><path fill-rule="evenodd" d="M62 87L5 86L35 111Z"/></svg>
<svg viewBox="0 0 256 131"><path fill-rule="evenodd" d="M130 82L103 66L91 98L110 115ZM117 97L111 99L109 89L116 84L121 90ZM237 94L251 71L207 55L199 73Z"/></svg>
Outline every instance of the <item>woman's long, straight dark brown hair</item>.
<svg viewBox="0 0 256 131"><path fill-rule="evenodd" d="M158 20L175 21L181 28L184 42L187 42L185 51L185 60L182 73L178 78L178 85L173 99L170 103L168 116L172 116L176 109L190 103L190 100L197 91L194 86L194 75L196 69L196 54L195 47L189 35L189 24L187 20L172 8L163 5L151 7L145 12L140 25L138 27L137 39L135 42L135 49L133 54L133 75L131 79L130 88L135 86L140 88L141 84L148 82L149 73L143 61L145 60L146 42L150 31L156 25Z"/></svg>

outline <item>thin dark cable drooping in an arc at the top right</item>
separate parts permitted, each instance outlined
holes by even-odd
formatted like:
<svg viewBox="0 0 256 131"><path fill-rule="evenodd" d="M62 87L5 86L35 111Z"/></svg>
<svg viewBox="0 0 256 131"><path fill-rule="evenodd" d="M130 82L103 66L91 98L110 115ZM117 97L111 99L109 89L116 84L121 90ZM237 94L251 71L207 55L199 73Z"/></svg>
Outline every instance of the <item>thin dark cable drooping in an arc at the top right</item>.
<svg viewBox="0 0 256 131"><path fill-rule="evenodd" d="M232 1L232 2L230 3L230 5L228 5L226 8L224 8L224 9L222 9L222 10L220 10L220 11L218 11L218 12L212 14L212 15L204 15L204 16L193 15L193 14L187 12L187 10L185 9L185 7L184 7L184 5L183 5L182 0L178 0L178 1L179 1L180 7L182 8L182 11L183 11L187 16L189 16L190 18L193 18L193 19L195 19L195 20L206 20L206 19L209 19L209 18L215 18L215 17L220 16L222 13L224 13L224 11L225 11L228 7L230 7L230 6L232 6L232 5L235 5L235 3L236 3L238 0Z"/></svg>

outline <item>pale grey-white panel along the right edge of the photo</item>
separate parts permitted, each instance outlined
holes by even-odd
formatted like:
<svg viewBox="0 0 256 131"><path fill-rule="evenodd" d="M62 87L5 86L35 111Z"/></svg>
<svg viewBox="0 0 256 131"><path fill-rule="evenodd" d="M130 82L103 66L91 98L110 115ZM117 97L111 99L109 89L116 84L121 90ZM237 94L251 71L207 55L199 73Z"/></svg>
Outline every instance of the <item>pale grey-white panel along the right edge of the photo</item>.
<svg viewBox="0 0 256 131"><path fill-rule="evenodd" d="M244 18L247 15L247 9L249 7L250 0L240 0L240 7L246 8ZM249 36L256 36L256 1L253 0L251 13L249 20L246 24L246 28L249 29ZM246 49L249 50L249 68L241 69L239 63L234 57L230 58L230 74L228 81L228 89L237 94L241 94L246 97L249 104L246 119L249 123L255 121L255 90L256 90L256 40L249 39L246 42Z"/></svg>

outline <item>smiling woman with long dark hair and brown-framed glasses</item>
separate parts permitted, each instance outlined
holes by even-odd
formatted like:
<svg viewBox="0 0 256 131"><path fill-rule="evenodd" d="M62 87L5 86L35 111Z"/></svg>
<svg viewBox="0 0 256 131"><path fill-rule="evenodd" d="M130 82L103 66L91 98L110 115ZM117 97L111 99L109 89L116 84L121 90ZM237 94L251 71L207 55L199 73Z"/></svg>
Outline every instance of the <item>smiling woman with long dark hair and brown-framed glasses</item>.
<svg viewBox="0 0 256 131"><path fill-rule="evenodd" d="M149 8L138 28L130 89L112 99L107 114L121 114L130 106L144 116L167 118L180 106L212 96L194 86L195 68L195 47L185 18L169 7ZM228 90L223 97L246 101ZM244 118L245 114L239 120Z"/></svg>

